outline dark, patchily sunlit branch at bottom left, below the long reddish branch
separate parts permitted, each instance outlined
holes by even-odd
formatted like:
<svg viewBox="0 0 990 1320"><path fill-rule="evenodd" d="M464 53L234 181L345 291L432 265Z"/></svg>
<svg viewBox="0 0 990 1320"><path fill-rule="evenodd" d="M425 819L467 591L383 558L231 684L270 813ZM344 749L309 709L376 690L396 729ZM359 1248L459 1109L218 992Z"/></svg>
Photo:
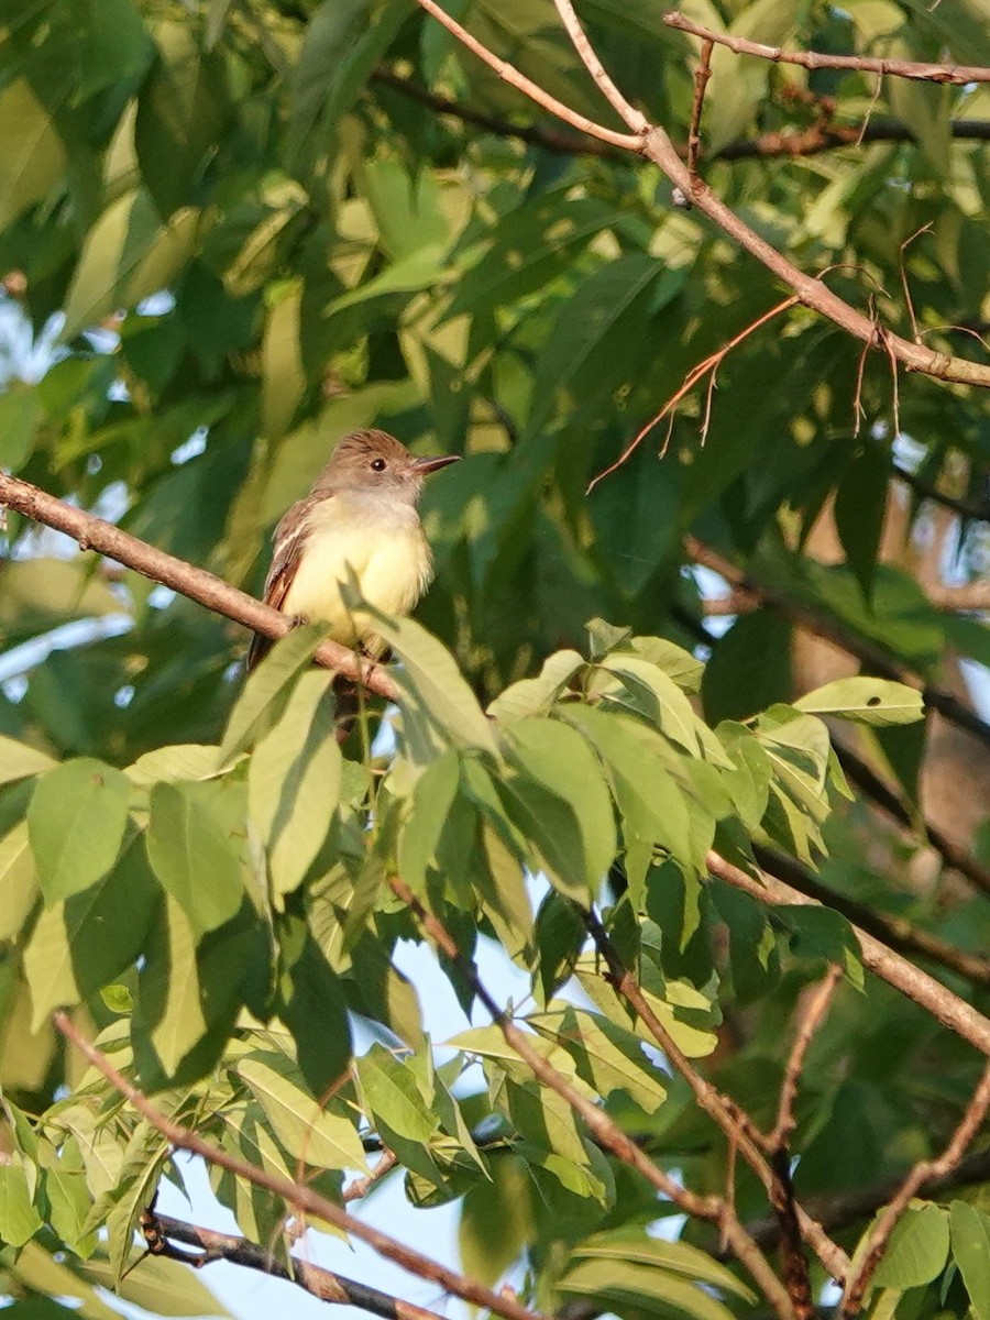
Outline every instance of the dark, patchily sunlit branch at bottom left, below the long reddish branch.
<svg viewBox="0 0 990 1320"><path fill-rule="evenodd" d="M289 1265L285 1265L272 1251L232 1233L218 1233L215 1229L176 1220L170 1214L158 1214L157 1210L143 1210L139 1224L150 1255L181 1261L197 1270L215 1261L227 1261L275 1279L286 1279L319 1302L359 1307L383 1320L444 1320L436 1311L393 1298L319 1265L310 1265L297 1255L290 1257ZM185 1251L173 1246L173 1242L197 1250Z"/></svg>

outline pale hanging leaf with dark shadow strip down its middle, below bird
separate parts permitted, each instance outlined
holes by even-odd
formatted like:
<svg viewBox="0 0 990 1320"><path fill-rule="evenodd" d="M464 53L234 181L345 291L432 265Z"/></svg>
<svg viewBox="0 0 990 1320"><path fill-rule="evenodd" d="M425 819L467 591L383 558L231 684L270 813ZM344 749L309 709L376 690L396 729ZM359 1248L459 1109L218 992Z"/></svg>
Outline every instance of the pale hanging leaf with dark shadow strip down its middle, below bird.
<svg viewBox="0 0 990 1320"><path fill-rule="evenodd" d="M268 851L275 892L302 882L326 840L341 795L333 675L300 676L279 723L248 767L248 812Z"/></svg>

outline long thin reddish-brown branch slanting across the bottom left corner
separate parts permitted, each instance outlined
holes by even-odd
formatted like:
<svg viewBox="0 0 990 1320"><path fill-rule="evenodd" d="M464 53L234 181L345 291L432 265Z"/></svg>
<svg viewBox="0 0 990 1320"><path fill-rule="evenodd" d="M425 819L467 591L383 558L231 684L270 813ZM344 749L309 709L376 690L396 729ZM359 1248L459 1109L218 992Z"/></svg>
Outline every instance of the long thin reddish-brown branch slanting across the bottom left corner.
<svg viewBox="0 0 990 1320"><path fill-rule="evenodd" d="M181 1123L176 1123L173 1119L162 1114L161 1110L157 1109L150 1100L148 1100L144 1092L139 1090L133 1082L128 1081L128 1078L114 1067L107 1056L82 1035L66 1012L59 1010L53 1014L51 1020L66 1040L75 1045L75 1048L86 1059L88 1059L92 1067L96 1068L98 1072L103 1073L111 1086L114 1086L114 1089L119 1092L124 1100L128 1100L137 1113L141 1114L143 1118L147 1118L152 1127L160 1131L162 1137L165 1137L177 1150L191 1151L194 1155L202 1156L202 1159L205 1159L209 1164L230 1170L231 1173L236 1173L248 1183L253 1183L256 1187L264 1187L267 1191L275 1193L275 1196L282 1197L282 1200L285 1200L293 1209L306 1210L317 1218L326 1220L327 1224L333 1224L343 1233L348 1233L352 1237L359 1238L362 1242L366 1242L374 1251L378 1251L378 1254L384 1257L387 1261L393 1261L411 1274L416 1274L421 1279L428 1279L432 1283L438 1284L446 1292L450 1292L457 1298L462 1298L473 1305L484 1307L495 1315L503 1316L504 1320L539 1320L536 1312L528 1311L524 1305L516 1302L515 1298L506 1296L500 1292L492 1292L491 1288L486 1288L474 1279L469 1279L465 1275L458 1274L455 1270L447 1269L447 1266L441 1265L438 1261L432 1261L429 1257L422 1255L413 1247L397 1241L397 1238L391 1237L388 1233L383 1233L380 1229L375 1229L370 1224L364 1224L363 1220L358 1220L346 1210L342 1210L339 1205L334 1205L333 1201L321 1196L318 1192L314 1192L312 1188L305 1187L301 1183L293 1183L290 1179L282 1177L281 1173L256 1168L247 1160L240 1159L236 1155L231 1155L219 1146L213 1146L210 1142L203 1140L198 1133L194 1133L189 1127L183 1127Z"/></svg>

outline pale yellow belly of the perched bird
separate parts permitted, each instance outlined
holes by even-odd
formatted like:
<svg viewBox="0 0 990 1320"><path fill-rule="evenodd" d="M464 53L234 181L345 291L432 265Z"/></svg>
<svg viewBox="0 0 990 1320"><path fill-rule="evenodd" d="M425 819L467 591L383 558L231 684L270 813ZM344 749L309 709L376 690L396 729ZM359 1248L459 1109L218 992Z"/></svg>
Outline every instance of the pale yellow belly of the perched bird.
<svg viewBox="0 0 990 1320"><path fill-rule="evenodd" d="M348 647L363 642L374 651L372 620L362 610L350 611L341 595L351 572L370 605L383 614L408 614L430 579L430 550L418 520L397 531L313 531L285 594L284 614L329 623L335 642Z"/></svg>

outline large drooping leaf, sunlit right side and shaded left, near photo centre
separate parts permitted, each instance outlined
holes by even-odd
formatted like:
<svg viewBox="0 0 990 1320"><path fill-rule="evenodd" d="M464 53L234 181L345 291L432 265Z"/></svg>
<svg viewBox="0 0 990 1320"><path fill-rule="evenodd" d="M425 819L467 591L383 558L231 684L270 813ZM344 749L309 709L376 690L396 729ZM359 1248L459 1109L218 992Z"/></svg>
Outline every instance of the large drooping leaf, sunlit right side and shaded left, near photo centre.
<svg viewBox="0 0 990 1320"><path fill-rule="evenodd" d="M561 892L587 899L615 857L615 820L602 768L581 734L529 715L506 731L519 774L504 780L510 813Z"/></svg>

